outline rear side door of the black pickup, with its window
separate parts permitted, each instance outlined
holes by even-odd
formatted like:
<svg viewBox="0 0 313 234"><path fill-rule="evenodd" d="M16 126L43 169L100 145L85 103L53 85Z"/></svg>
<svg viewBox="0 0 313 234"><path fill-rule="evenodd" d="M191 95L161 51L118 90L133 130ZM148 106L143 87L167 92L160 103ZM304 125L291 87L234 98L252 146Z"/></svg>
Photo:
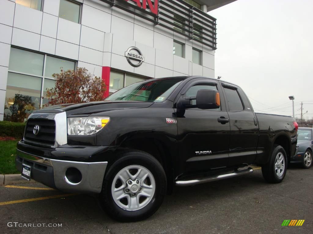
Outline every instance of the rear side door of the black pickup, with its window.
<svg viewBox="0 0 313 234"><path fill-rule="evenodd" d="M256 157L259 128L244 92L235 85L223 83L230 123L228 166L253 163Z"/></svg>

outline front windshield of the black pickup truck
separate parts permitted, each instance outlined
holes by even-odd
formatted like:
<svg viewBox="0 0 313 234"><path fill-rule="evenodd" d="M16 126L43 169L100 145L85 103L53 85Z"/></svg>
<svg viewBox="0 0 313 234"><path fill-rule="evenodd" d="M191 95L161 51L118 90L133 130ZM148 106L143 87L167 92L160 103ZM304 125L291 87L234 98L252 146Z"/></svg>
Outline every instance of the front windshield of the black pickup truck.
<svg viewBox="0 0 313 234"><path fill-rule="evenodd" d="M163 102L183 79L175 77L137 82L116 91L105 100Z"/></svg>

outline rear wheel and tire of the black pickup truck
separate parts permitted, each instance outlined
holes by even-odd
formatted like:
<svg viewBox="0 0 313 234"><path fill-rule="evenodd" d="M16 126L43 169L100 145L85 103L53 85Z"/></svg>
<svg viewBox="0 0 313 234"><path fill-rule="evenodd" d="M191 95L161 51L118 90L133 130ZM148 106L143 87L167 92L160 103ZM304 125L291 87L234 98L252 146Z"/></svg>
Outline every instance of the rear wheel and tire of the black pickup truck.
<svg viewBox="0 0 313 234"><path fill-rule="evenodd" d="M262 175L268 183L280 183L287 171L287 154L280 145L274 145L269 161L262 165Z"/></svg>

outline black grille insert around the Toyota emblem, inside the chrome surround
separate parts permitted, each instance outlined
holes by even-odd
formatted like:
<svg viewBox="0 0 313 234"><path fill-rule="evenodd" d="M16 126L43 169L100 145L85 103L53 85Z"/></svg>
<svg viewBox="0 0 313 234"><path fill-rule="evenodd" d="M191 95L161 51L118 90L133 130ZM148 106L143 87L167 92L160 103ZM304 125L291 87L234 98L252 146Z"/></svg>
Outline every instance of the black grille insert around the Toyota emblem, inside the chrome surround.
<svg viewBox="0 0 313 234"><path fill-rule="evenodd" d="M39 126L38 134L34 134L35 125ZM39 143L54 145L55 143L55 121L54 119L28 119L24 140Z"/></svg>

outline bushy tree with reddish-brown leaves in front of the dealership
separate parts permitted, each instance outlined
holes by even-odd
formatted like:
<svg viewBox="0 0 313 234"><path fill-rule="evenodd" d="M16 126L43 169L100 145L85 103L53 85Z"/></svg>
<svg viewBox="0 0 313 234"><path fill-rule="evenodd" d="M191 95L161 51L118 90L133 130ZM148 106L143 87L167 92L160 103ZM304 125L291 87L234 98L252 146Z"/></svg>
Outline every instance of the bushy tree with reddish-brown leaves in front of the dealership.
<svg viewBox="0 0 313 234"><path fill-rule="evenodd" d="M103 100L106 88L104 81L100 77L93 77L86 68L61 70L61 73L54 73L52 77L55 79L55 87L46 89L45 98L49 102L45 106Z"/></svg>

